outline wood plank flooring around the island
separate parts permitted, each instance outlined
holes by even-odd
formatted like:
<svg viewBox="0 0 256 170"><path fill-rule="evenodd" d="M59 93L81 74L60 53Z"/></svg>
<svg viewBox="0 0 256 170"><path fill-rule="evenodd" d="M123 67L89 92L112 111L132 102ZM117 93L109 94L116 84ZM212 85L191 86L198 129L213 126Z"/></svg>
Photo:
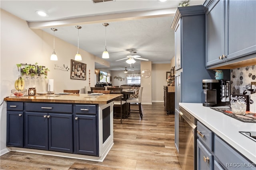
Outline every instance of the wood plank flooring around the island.
<svg viewBox="0 0 256 170"><path fill-rule="evenodd" d="M131 105L138 108L138 105ZM0 157L1 170L180 170L174 146L174 115L163 103L142 105L128 119L114 119L114 146L103 162L9 152Z"/></svg>

